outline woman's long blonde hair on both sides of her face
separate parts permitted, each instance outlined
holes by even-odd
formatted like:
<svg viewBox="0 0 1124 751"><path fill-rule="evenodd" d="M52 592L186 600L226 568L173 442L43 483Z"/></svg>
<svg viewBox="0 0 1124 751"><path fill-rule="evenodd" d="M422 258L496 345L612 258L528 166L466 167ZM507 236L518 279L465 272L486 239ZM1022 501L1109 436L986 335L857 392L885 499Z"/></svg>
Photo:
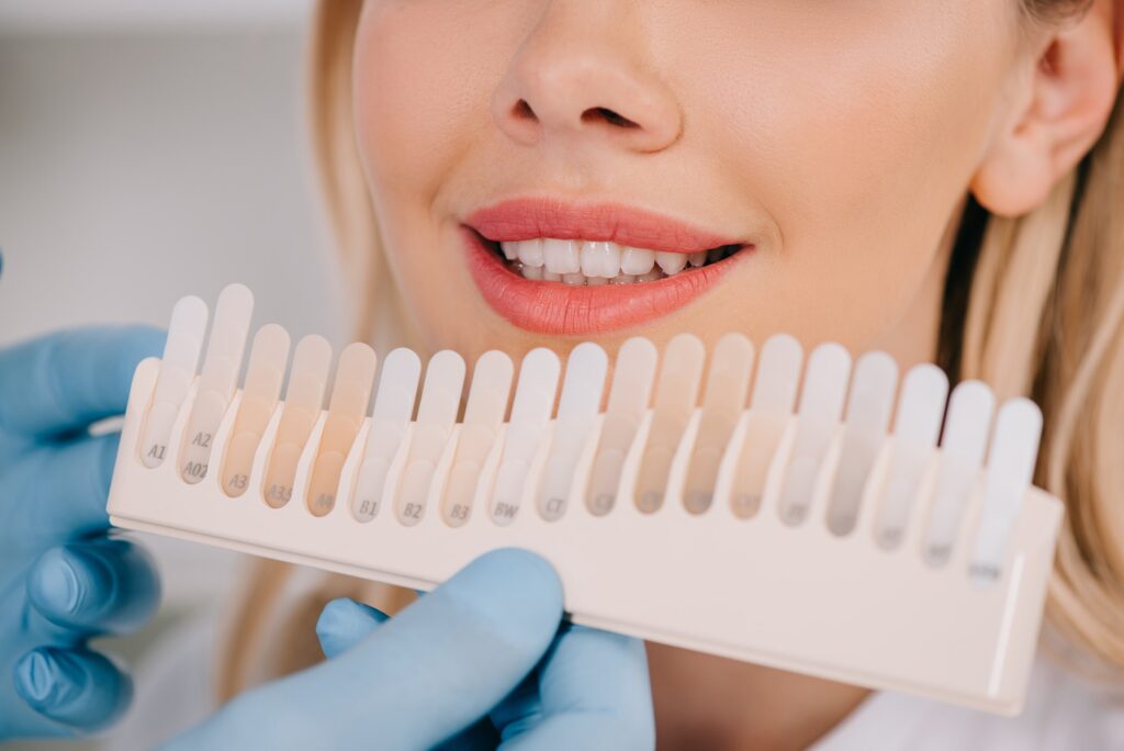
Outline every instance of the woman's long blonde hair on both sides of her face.
<svg viewBox="0 0 1124 751"><path fill-rule="evenodd" d="M1040 20L1085 0L1026 0ZM325 208L362 308L356 338L410 337L380 251L352 121L352 53L362 0L321 0L311 49L310 102ZM1064 6L1064 8L1062 8ZM1124 105L1091 153L1049 200L1016 219L973 201L945 283L939 360L1000 397L1028 395L1045 415L1036 481L1066 499L1048 616L1094 664L1124 668ZM415 345L419 344L414 342ZM219 664L219 698L319 659L312 624L347 595L396 609L406 599L345 577L323 582L260 639L277 615L290 568L255 563ZM273 642L280 649L256 652ZM255 663L259 666L255 669ZM264 669L261 666L266 666Z"/></svg>

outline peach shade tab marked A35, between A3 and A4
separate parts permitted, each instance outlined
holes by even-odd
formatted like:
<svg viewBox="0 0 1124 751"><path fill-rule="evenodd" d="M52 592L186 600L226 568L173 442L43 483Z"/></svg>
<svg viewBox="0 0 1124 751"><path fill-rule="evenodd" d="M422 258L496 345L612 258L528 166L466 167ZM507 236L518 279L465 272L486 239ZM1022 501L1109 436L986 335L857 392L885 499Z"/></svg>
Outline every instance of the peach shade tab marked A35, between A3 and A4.
<svg viewBox="0 0 1124 751"><path fill-rule="evenodd" d="M320 416L330 367L332 345L326 338L312 335L297 343L289 388L262 485L262 496L273 508L284 506L292 498L297 462Z"/></svg>

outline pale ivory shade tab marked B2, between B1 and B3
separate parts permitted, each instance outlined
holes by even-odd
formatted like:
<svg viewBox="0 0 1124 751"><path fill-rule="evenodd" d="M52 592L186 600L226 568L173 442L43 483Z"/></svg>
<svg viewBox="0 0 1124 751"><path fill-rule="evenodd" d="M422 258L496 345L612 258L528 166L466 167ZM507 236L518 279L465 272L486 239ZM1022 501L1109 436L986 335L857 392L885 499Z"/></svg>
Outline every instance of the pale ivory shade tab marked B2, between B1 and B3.
<svg viewBox="0 0 1124 751"><path fill-rule="evenodd" d="M426 369L414 438L398 488L398 521L407 526L425 515L433 473L456 423L463 389L464 359L451 350L435 354Z"/></svg>

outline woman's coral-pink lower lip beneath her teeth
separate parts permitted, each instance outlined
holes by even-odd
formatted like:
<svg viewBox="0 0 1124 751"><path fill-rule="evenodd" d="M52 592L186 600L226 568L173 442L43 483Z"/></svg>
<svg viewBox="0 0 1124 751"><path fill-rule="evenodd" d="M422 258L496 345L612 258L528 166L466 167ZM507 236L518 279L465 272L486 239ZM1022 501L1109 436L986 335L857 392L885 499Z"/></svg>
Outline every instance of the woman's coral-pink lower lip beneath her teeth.
<svg viewBox="0 0 1124 751"><path fill-rule="evenodd" d="M508 228L514 226L509 225ZM526 331L570 336L588 336L637 326L678 310L714 287L733 268L736 259L749 250L743 248L743 252L724 261L689 269L658 281L575 287L524 279L508 268L489 246L490 237L486 239L482 233L470 226L462 226L461 233L472 278L496 313ZM623 237L629 236L617 234L614 237L622 239L610 239L605 237L607 233L601 233L600 237L589 237L589 234L587 229L581 235L571 235L571 238L623 243L627 242ZM522 238L538 236L543 235L525 234ZM646 242L651 247L651 238ZM695 245L690 247L699 250ZM664 244L662 250L670 247Z"/></svg>

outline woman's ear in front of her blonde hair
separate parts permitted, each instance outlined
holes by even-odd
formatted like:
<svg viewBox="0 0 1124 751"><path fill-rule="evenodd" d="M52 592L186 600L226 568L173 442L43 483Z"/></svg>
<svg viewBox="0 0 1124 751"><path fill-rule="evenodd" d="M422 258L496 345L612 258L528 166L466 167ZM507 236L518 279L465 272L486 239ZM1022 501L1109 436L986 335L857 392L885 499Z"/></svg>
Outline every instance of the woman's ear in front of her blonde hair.
<svg viewBox="0 0 1124 751"><path fill-rule="evenodd" d="M1096 0L1041 44L1018 109L972 179L989 211L1016 217L1037 208L1096 144L1120 93L1122 17L1124 0Z"/></svg>

